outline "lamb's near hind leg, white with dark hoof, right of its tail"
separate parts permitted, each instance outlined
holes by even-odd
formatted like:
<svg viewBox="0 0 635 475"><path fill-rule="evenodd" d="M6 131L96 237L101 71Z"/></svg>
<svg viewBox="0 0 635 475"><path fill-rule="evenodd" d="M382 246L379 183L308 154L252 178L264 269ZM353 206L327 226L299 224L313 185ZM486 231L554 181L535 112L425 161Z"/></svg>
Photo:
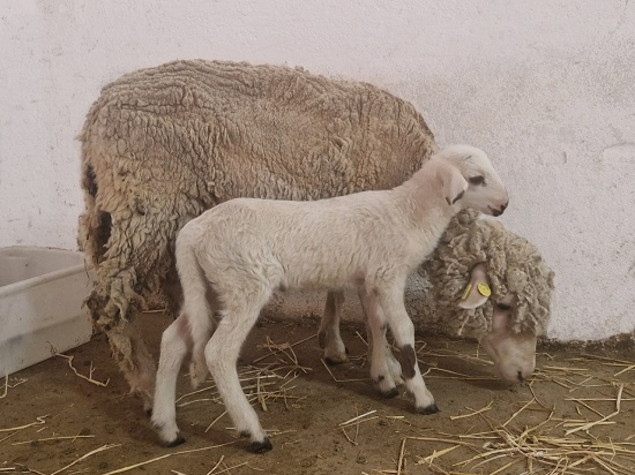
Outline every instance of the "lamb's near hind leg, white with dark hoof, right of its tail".
<svg viewBox="0 0 635 475"><path fill-rule="evenodd" d="M238 433L242 437L250 438L251 452L262 453L271 450L272 445L260 426L258 415L243 393L236 362L244 340L258 319L260 309L269 300L269 294L256 294L244 288L239 290L243 290L251 302L245 303L242 299L241 303L240 296L222 299L227 304L221 311L222 316L217 329L205 347L205 359Z"/></svg>

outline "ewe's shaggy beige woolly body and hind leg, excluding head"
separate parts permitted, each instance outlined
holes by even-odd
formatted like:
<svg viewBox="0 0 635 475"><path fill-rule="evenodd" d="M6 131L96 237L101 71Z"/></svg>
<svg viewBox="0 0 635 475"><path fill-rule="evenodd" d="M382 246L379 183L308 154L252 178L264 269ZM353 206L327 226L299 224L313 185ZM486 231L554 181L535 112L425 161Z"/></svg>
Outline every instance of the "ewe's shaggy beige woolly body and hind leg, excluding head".
<svg viewBox="0 0 635 475"><path fill-rule="evenodd" d="M420 114L370 84L300 68L178 61L102 89L81 140L86 303L131 392L152 406L156 365L135 314L180 302L178 230L236 197L315 200L393 188L437 147Z"/></svg>

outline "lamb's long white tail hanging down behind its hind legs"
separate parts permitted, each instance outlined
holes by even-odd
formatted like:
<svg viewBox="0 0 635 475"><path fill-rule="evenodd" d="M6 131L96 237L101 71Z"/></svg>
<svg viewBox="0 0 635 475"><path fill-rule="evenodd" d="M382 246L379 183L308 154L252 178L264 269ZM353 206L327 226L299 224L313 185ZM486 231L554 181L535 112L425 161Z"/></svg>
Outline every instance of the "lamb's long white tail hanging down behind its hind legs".
<svg viewBox="0 0 635 475"><path fill-rule="evenodd" d="M192 335L190 381L196 388L208 374L204 349L213 332L213 309L207 299L207 280L186 233L182 230L177 238L176 256L178 277L183 287L182 314L189 322Z"/></svg>

